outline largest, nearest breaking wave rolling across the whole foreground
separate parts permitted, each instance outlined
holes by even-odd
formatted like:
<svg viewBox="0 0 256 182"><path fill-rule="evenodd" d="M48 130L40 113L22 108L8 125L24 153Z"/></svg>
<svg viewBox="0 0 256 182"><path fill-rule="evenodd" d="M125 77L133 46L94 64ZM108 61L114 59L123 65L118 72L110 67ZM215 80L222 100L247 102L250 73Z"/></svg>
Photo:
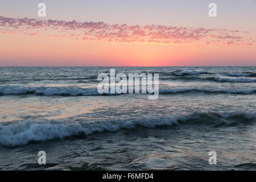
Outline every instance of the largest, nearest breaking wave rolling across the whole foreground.
<svg viewBox="0 0 256 182"><path fill-rule="evenodd" d="M15 121L0 123L0 145L14 147L30 142L63 139L76 135L89 135L102 131L114 132L135 127L155 128L173 126L182 123L196 125L197 122L219 122L223 119L234 122L252 122L256 113L193 113L188 115L172 115L162 118L109 119L108 121ZM228 121L227 121L228 122Z"/></svg>

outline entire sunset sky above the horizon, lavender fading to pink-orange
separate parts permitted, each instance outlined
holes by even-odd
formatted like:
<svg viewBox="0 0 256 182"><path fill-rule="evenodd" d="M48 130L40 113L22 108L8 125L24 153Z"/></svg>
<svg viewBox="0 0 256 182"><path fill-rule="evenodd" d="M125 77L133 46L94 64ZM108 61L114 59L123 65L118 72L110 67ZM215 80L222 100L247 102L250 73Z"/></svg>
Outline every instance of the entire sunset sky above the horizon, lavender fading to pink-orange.
<svg viewBox="0 0 256 182"><path fill-rule="evenodd" d="M0 66L256 66L255 10L256 0L0 1Z"/></svg>

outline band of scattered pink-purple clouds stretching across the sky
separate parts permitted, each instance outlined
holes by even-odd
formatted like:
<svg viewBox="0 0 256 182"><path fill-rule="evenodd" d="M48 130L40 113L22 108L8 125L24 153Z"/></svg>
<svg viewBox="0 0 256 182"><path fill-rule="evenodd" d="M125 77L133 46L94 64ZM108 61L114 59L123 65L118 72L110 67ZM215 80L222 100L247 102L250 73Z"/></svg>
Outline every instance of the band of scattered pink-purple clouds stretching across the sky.
<svg viewBox="0 0 256 182"><path fill-rule="evenodd" d="M72 40L91 40L122 43L191 43L201 41L205 44L220 43L225 45L251 45L254 40L246 39L239 30L220 28L171 27L161 25L129 26L127 24L106 24L104 22L77 22L76 20L36 20L28 18L7 18L0 16L0 26L5 31L38 35L33 32L47 30L56 32L55 37L72 36ZM57 30L57 31L55 31ZM61 36L59 35L61 32ZM74 39L75 37L75 39Z"/></svg>

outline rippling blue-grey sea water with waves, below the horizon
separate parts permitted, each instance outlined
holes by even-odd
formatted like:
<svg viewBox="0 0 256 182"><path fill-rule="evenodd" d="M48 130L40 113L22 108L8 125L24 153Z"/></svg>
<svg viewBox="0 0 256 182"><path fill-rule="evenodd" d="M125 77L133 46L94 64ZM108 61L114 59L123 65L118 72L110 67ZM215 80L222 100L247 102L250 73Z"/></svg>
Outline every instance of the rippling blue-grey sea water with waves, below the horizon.
<svg viewBox="0 0 256 182"><path fill-rule="evenodd" d="M158 100L98 94L110 67L0 68L0 169L256 169L256 67L115 72L159 73Z"/></svg>

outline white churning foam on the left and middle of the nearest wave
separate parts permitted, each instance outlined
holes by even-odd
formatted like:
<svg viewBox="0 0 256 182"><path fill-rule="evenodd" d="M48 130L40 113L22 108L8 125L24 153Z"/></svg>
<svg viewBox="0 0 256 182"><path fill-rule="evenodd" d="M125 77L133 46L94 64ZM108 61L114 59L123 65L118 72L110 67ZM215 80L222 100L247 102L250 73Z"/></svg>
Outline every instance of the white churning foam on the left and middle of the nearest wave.
<svg viewBox="0 0 256 182"><path fill-rule="evenodd" d="M117 131L131 129L136 125L155 127L156 125L170 126L177 118L141 118L131 121L23 121L9 125L0 124L0 144L3 146L24 145L31 141L45 141L55 138L65 138L80 133L84 135L102 131ZM6 124L6 123L5 123Z"/></svg>

